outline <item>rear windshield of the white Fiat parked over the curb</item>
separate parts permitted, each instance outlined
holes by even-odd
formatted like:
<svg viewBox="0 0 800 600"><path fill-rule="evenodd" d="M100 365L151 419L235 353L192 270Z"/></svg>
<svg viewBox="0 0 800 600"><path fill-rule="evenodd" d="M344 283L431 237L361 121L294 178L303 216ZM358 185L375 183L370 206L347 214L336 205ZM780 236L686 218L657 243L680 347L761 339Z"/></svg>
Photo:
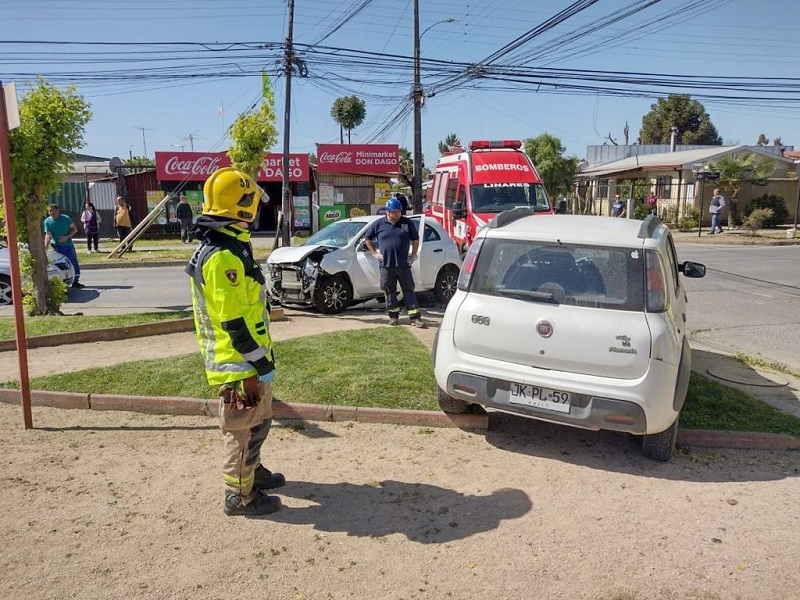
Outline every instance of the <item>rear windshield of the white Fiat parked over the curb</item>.
<svg viewBox="0 0 800 600"><path fill-rule="evenodd" d="M641 311L642 249L486 239L471 293L588 308Z"/></svg>

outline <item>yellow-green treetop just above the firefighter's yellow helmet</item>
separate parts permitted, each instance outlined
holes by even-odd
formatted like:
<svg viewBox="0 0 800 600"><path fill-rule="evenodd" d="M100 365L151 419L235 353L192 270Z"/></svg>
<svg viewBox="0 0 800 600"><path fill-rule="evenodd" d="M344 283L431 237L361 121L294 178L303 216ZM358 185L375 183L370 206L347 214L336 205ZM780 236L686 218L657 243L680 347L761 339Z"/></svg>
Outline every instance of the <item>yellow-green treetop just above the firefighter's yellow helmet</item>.
<svg viewBox="0 0 800 600"><path fill-rule="evenodd" d="M261 101L258 110L236 117L228 131L232 141L228 158L233 167L255 178L264 156L278 141L275 122L275 109L269 98Z"/></svg>

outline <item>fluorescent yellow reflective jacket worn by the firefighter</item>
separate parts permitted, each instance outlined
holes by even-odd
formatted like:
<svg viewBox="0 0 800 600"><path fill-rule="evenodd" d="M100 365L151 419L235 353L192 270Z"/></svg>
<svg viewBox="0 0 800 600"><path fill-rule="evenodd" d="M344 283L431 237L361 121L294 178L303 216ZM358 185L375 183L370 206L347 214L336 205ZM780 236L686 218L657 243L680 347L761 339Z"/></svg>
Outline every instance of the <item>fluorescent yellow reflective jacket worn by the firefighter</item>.
<svg viewBox="0 0 800 600"><path fill-rule="evenodd" d="M208 383L221 385L272 371L267 292L250 233L230 226L209 229L186 272Z"/></svg>

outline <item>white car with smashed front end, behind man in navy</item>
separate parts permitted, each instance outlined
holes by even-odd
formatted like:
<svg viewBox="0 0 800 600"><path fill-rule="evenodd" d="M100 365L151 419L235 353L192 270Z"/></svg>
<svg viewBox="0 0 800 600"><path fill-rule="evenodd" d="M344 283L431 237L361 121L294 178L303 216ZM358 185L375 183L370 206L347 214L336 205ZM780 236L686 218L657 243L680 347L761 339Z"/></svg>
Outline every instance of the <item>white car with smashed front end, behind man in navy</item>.
<svg viewBox="0 0 800 600"><path fill-rule="evenodd" d="M353 217L331 223L301 246L277 248L267 259L270 301L313 306L326 314L351 304L383 298L378 261L364 243L364 232L382 215ZM421 215L409 217L420 230ZM432 291L446 304L453 297L461 270L458 247L433 219L424 219L419 260L411 267L417 292Z"/></svg>

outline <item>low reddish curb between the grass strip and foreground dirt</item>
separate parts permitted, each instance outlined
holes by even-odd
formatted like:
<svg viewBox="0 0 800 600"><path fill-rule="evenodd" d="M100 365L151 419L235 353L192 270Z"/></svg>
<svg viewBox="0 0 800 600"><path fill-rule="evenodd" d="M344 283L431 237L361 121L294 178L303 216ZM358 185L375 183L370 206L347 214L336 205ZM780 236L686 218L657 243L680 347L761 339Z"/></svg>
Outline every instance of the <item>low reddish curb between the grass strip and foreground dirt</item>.
<svg viewBox="0 0 800 600"><path fill-rule="evenodd" d="M0 389L0 402L21 404L19 390ZM48 408L83 410L120 410L145 414L183 416L219 416L216 400L177 398L169 396L124 396L116 394L80 394L31 390L31 405ZM274 400L275 419L287 422L384 423L416 427L457 427L473 431L488 431L489 414L448 414L433 410L367 408L322 404L297 404ZM713 431L681 429L678 444L698 448L728 448L734 450L800 450L800 438L778 433L747 431Z"/></svg>

